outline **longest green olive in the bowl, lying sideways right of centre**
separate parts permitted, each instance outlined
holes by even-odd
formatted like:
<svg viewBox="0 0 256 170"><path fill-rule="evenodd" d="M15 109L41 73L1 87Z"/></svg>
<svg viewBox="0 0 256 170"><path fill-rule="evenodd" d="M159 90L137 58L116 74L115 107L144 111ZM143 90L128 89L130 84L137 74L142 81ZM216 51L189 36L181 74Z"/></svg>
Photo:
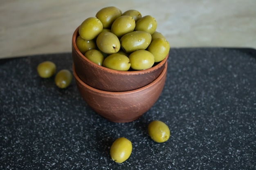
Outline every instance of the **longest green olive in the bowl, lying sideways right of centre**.
<svg viewBox="0 0 256 170"><path fill-rule="evenodd" d="M151 42L151 35L145 31L132 31L121 37L121 48L126 53L132 53L136 50L145 50Z"/></svg>

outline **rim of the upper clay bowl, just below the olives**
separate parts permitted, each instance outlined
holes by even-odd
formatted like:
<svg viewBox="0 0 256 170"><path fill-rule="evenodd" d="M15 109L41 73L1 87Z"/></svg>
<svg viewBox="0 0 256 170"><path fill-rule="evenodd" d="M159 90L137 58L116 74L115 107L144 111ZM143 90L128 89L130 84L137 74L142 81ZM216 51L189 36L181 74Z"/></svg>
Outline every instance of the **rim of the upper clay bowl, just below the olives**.
<svg viewBox="0 0 256 170"><path fill-rule="evenodd" d="M166 63L169 53L166 55L166 57L158 62L156 65L152 66L151 68L145 69L145 70L137 70L137 71L119 71L119 70L114 70L111 68L106 68L103 66L99 66L98 64L95 64L94 62L90 61L88 58L84 57L84 55L79 51L79 49L76 46L76 38L79 36L79 27L78 26L73 35L72 35L72 46L74 47L74 50L76 51L76 53L78 53L79 57L82 60L85 60L85 62L88 62L90 65L99 68L101 71L103 72L107 72L107 73L114 73L114 74L122 74L122 75L141 75L141 74L147 74L150 72L153 72L159 68L161 68L161 66L164 66L164 64Z"/></svg>

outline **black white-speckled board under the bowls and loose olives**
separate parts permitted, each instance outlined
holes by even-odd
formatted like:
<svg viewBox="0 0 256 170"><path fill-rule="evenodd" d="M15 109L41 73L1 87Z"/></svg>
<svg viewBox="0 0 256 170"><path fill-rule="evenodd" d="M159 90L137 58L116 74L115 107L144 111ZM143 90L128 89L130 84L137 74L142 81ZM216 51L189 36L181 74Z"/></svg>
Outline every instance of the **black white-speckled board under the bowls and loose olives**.
<svg viewBox="0 0 256 170"><path fill-rule="evenodd" d="M58 89L41 79L40 62L72 71L71 53L0 60L1 170L251 170L256 169L256 51L171 49L166 84L155 105L130 123L92 111L74 79ZM171 137L150 139L150 121ZM110 159L118 137L133 145L122 164Z"/></svg>

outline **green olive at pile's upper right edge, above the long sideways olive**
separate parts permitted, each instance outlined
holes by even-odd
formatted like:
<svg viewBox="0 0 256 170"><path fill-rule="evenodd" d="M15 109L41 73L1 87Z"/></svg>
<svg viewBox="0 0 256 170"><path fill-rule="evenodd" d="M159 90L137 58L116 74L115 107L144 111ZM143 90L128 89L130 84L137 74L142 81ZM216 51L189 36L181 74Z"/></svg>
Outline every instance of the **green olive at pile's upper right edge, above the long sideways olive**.
<svg viewBox="0 0 256 170"><path fill-rule="evenodd" d="M157 22L155 18L150 15L146 15L136 22L135 31L146 31L153 34L157 29Z"/></svg>

